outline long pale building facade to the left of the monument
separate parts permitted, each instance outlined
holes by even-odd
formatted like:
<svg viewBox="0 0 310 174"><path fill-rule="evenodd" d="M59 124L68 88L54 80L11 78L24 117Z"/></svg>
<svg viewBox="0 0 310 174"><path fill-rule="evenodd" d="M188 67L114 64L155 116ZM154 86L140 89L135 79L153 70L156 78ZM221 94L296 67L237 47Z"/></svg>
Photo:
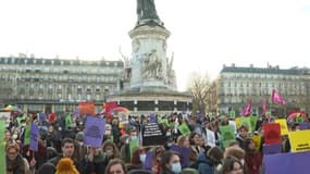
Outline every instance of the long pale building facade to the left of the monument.
<svg viewBox="0 0 310 174"><path fill-rule="evenodd" d="M92 100L98 109L119 90L122 61L82 61L0 58L0 103L24 111L71 111L78 101Z"/></svg>

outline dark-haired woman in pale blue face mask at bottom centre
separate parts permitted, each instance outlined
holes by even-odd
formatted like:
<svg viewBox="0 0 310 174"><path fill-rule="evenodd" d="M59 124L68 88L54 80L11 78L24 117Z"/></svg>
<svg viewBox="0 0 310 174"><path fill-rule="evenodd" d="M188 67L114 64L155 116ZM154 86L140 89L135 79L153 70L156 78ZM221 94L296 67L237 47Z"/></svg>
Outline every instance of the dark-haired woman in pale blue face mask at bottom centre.
<svg viewBox="0 0 310 174"><path fill-rule="evenodd" d="M165 151L161 159L161 174L181 174L179 154L175 151Z"/></svg>

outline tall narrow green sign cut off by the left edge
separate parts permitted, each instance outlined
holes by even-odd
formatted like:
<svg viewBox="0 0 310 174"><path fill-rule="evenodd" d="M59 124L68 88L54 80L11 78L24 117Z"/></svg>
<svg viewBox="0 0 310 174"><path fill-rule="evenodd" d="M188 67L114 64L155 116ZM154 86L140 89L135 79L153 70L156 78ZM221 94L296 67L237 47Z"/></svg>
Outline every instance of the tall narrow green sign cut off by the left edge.
<svg viewBox="0 0 310 174"><path fill-rule="evenodd" d="M5 147L3 144L5 130L5 117L0 119L0 173L7 173L7 157L5 157Z"/></svg>

